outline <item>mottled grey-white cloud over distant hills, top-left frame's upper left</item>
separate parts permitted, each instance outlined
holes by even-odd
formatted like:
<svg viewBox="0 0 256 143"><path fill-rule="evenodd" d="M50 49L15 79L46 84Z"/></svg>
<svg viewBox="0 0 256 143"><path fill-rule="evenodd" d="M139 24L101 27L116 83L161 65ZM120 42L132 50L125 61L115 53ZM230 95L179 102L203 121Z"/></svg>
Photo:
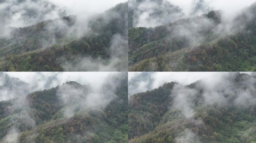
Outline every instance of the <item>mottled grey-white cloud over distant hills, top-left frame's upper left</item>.
<svg viewBox="0 0 256 143"><path fill-rule="evenodd" d="M10 27L28 26L66 15L65 10L46 0L3 0L0 12L0 36L9 35Z"/></svg>

